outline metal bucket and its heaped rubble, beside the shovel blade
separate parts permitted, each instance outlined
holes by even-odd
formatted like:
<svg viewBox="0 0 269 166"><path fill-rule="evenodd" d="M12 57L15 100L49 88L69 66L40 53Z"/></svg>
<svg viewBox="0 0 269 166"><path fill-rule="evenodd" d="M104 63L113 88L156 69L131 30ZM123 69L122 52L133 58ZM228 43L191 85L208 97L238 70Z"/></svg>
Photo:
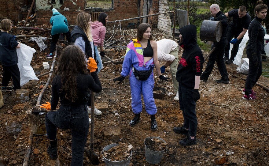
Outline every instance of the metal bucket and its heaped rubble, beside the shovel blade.
<svg viewBox="0 0 269 166"><path fill-rule="evenodd" d="M102 151L105 166L128 166L132 159L132 148L132 145L122 142L107 145Z"/></svg>

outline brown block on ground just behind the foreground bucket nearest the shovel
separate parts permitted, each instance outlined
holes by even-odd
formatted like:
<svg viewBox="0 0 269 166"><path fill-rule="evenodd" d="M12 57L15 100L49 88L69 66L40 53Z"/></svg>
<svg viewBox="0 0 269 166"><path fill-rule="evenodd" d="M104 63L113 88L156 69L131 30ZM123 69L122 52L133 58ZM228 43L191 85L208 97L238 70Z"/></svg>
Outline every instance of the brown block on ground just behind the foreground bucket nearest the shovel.
<svg viewBox="0 0 269 166"><path fill-rule="evenodd" d="M105 138L109 139L110 141L118 142L122 140L121 130L118 126L105 127L103 132Z"/></svg>

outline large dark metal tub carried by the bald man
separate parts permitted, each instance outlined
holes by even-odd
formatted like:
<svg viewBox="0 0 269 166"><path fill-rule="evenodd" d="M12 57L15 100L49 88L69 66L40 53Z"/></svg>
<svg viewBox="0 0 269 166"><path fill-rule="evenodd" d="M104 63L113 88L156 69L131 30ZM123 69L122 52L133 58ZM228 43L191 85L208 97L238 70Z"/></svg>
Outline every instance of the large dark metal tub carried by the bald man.
<svg viewBox="0 0 269 166"><path fill-rule="evenodd" d="M200 39L204 42L219 42L222 35L221 21L204 20L200 28Z"/></svg>

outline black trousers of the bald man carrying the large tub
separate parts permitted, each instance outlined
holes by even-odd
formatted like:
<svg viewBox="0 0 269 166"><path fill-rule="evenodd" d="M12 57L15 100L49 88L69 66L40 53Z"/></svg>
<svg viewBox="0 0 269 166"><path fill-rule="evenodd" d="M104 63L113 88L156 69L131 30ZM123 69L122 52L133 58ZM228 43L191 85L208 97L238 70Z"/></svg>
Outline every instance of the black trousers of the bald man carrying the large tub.
<svg viewBox="0 0 269 166"><path fill-rule="evenodd" d="M226 38L220 39L219 43L214 42L212 44L211 48L213 48L213 47L216 47L216 48L208 58L208 63L205 67L205 71L201 75L202 78L208 79L209 75L211 74L211 72L214 68L215 62L217 62L217 66L218 66L221 78L223 80L229 80L227 69L226 69L225 63L223 61L223 54L224 54L224 49L225 49L226 45L227 45Z"/></svg>

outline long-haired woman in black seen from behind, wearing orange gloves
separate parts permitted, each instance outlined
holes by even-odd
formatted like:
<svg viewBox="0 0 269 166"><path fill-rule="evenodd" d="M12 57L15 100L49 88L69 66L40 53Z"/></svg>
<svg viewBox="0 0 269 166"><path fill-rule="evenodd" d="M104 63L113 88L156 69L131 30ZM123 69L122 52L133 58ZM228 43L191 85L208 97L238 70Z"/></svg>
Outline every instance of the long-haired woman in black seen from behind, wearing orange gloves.
<svg viewBox="0 0 269 166"><path fill-rule="evenodd" d="M56 76L52 81L52 97L50 103L41 108L55 110L59 99L59 111L46 114L46 131L50 141L48 154L57 159L57 128L71 129L72 133L72 166L83 165L84 147L89 132L89 115L87 111L87 89L101 92L102 86L96 73L97 64L89 58L88 73L83 52L77 46L67 46L59 61Z"/></svg>

